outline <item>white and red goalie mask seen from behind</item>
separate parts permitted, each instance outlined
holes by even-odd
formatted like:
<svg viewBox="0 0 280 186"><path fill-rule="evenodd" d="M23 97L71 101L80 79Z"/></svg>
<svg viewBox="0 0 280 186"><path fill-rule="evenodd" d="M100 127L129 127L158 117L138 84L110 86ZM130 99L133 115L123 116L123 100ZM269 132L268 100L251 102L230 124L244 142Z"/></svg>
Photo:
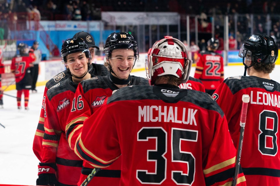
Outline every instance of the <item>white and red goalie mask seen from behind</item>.
<svg viewBox="0 0 280 186"><path fill-rule="evenodd" d="M164 39L156 42L148 51L146 58L146 75L153 85L157 76L174 75L188 81L192 60L188 50L178 39L164 36Z"/></svg>

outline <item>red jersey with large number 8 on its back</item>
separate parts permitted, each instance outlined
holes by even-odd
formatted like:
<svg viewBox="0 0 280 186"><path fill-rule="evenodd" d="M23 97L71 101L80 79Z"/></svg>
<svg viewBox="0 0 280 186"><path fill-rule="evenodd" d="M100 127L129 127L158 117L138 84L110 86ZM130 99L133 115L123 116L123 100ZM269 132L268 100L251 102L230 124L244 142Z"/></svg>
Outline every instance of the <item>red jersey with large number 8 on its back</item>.
<svg viewBox="0 0 280 186"><path fill-rule="evenodd" d="M255 76L236 76L216 89L213 98L225 113L236 148L243 94L250 96L240 162L247 185L280 185L280 84Z"/></svg>

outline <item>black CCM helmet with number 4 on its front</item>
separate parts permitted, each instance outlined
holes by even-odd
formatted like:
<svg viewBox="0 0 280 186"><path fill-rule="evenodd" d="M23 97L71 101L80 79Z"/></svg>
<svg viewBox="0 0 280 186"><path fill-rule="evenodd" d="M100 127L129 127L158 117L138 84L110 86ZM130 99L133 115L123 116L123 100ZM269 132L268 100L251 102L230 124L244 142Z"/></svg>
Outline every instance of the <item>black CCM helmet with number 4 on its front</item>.
<svg viewBox="0 0 280 186"><path fill-rule="evenodd" d="M62 63L65 65L65 63L67 62L67 58L66 58L67 55L76 52L85 53L85 56L91 59L88 45L85 43L85 41L82 38L77 37L77 38L65 40L64 43L62 44L62 49L61 49Z"/></svg>

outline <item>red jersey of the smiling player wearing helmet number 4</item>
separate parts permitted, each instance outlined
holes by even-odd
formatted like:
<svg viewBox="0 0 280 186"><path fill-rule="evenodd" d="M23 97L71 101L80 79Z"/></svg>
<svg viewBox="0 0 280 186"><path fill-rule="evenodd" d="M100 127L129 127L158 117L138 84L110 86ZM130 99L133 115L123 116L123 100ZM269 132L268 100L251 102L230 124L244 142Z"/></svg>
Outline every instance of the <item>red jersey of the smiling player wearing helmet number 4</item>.
<svg viewBox="0 0 280 186"><path fill-rule="evenodd" d="M77 185L83 161L72 151L65 137L66 121L71 110L77 84L68 77L51 87L46 96L45 133L42 142L42 163L56 163L57 181ZM71 173L71 176L68 176Z"/></svg>

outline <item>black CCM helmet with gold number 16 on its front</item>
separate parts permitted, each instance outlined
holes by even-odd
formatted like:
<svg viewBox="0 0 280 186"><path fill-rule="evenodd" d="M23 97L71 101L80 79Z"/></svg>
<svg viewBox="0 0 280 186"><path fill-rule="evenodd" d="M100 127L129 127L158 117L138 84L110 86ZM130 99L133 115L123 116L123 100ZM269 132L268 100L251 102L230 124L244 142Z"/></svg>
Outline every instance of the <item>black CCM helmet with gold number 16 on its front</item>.
<svg viewBox="0 0 280 186"><path fill-rule="evenodd" d="M134 58L139 59L136 41L128 32L114 32L107 37L104 45L106 59L111 56L112 51L115 49L132 49L134 51Z"/></svg>

